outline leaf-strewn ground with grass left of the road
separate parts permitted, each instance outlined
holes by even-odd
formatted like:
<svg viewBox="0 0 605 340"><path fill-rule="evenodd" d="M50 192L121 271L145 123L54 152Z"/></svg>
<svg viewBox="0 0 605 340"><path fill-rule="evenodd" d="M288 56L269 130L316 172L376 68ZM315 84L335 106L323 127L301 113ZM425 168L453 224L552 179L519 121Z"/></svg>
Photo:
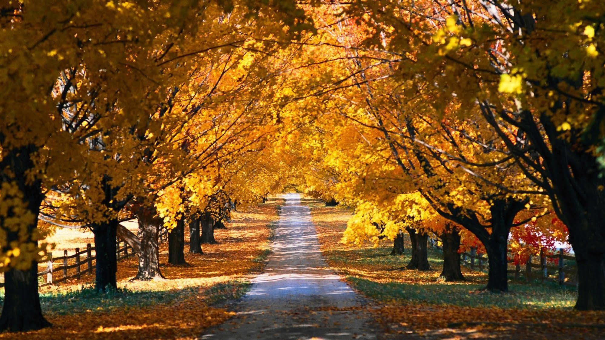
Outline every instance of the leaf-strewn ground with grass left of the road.
<svg viewBox="0 0 605 340"><path fill-rule="evenodd" d="M162 266L166 280L128 281L137 272L137 257L131 257L118 263L117 292L94 292L93 275L43 287L42 310L53 327L2 333L0 339L197 338L232 316L224 302L246 293L247 279L263 269L280 203L234 212L227 229L215 230L218 244L202 245L204 255L188 253L186 232L188 266ZM167 258L163 243L160 265Z"/></svg>

